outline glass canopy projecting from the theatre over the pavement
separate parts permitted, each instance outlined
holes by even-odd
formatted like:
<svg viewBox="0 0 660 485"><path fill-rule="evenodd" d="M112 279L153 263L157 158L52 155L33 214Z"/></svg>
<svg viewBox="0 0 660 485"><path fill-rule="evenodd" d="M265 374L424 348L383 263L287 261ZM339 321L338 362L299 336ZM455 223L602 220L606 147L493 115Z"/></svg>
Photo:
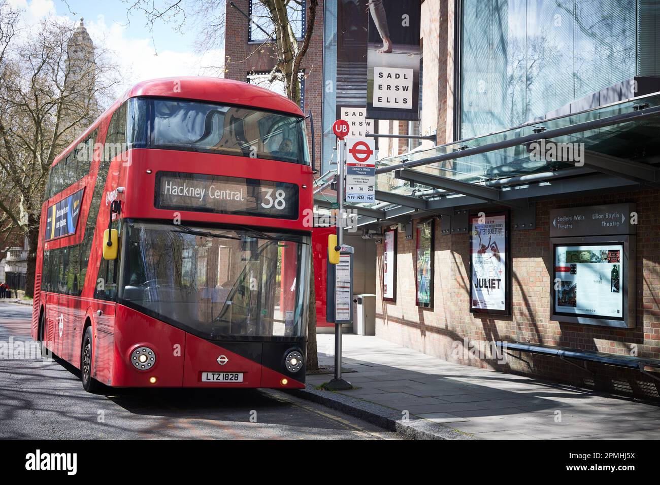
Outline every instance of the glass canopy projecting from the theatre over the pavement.
<svg viewBox="0 0 660 485"><path fill-rule="evenodd" d="M582 123L597 120L602 121L603 126L593 128L589 125L581 126ZM564 129L572 133L554 136L552 131L556 129ZM396 178L394 171L383 170L395 166L401 168L400 165L404 162L414 164L410 170L423 174L476 185L495 185L494 181L497 181L496 185L500 186L507 185L510 178L517 176L576 167L575 162L545 160L531 152L530 143L529 141L525 143L525 137L543 138L543 133L546 132L552 136L548 137L548 141L553 143L579 143L580 149L583 148L587 153L648 163L653 156L660 154L660 93L583 112L533 121L506 131L434 146L427 150L415 150L399 156L383 158L376 164L376 169L381 172L376 176L376 191L426 199L434 197L433 193L429 193L429 189L437 187L411 183ZM512 146L501 146L507 143ZM461 152L468 148L481 148L484 152L462 156ZM434 160L438 156L442 156L443 160ZM334 173L327 173L317 179L317 187L323 186L334 176ZM438 191L435 195L438 196ZM315 203L327 206L328 203L336 201L336 194L327 187L317 191L314 198ZM391 197L388 199L391 200ZM379 201L378 193L376 203L345 205L380 210L398 207L391 202Z"/></svg>

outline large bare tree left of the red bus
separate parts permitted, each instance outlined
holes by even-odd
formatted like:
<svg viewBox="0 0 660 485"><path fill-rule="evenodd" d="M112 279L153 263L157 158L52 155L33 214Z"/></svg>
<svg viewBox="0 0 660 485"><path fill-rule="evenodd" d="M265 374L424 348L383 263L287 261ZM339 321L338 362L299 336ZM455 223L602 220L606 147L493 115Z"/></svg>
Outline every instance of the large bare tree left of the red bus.
<svg viewBox="0 0 660 485"><path fill-rule="evenodd" d="M0 18L9 11L16 15L0 0ZM0 229L28 239L26 295L32 296L49 168L98 116L99 102L114 97L118 82L102 50L73 61L71 25L49 17L18 36L0 23L0 190L9 195L0 201Z"/></svg>

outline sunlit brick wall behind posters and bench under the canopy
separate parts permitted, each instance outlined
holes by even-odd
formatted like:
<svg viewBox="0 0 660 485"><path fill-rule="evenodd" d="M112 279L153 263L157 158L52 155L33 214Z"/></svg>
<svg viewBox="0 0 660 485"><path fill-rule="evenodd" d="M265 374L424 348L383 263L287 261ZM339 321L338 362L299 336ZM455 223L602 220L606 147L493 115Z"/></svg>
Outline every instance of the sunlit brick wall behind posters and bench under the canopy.
<svg viewBox="0 0 660 485"><path fill-rule="evenodd" d="M550 281L553 273L548 210L583 205L634 202L639 214L636 260L637 325L634 329L593 327L550 321ZM469 235L440 234L436 222L434 247L434 307L415 306L415 241L397 232L397 301L382 300L383 245L378 245L376 335L451 362L502 372L534 375L616 395L658 398L657 381L634 370L588 363L591 375L558 358L523 354L529 365L512 357L498 365L485 342L523 340L614 354L660 358L660 204L658 191L634 191L537 202L537 228L512 230L512 316L469 313ZM496 208L475 208L473 212ZM515 211L512 212L512 227ZM413 234L414 231L413 231ZM482 342L486 358L454 352L463 340ZM460 342L460 343L455 343ZM458 346L458 347L457 347ZM467 357L467 358L466 358Z"/></svg>

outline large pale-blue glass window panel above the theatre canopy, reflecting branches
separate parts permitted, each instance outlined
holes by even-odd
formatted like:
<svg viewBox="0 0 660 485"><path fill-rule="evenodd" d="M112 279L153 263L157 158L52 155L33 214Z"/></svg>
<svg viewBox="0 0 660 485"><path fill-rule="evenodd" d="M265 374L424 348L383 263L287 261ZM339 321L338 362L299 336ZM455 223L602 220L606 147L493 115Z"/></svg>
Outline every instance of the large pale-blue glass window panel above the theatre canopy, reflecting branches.
<svg viewBox="0 0 660 485"><path fill-rule="evenodd" d="M461 138L601 102L636 74L635 0L465 0Z"/></svg>

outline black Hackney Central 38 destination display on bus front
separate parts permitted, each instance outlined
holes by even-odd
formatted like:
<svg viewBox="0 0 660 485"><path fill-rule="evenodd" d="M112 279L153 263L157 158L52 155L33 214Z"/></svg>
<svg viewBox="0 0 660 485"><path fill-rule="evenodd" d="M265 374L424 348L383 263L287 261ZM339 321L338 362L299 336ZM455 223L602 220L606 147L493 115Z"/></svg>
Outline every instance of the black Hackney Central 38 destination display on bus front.
<svg viewBox="0 0 660 485"><path fill-rule="evenodd" d="M298 218L298 185L184 172L158 172L156 209Z"/></svg>

